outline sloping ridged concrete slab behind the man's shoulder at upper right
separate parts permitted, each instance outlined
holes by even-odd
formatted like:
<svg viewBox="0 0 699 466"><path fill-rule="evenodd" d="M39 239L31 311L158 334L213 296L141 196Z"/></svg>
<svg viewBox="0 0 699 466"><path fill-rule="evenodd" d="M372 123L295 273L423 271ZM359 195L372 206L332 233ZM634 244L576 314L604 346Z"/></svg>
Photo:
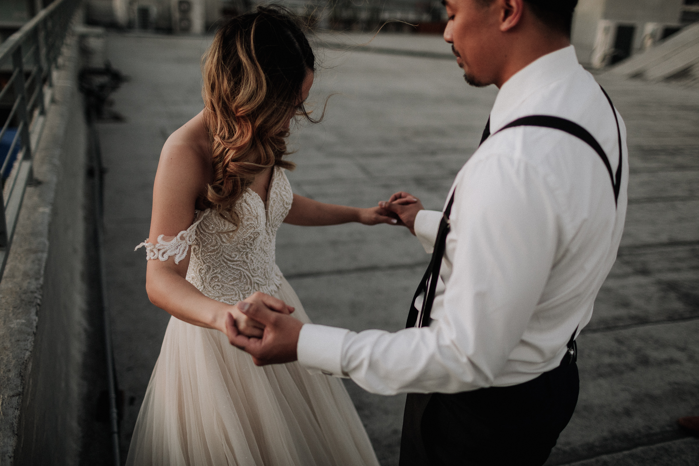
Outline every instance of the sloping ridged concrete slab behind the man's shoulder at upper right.
<svg viewBox="0 0 699 466"><path fill-rule="evenodd" d="M656 47L622 61L605 74L660 81L698 62L699 24L693 24Z"/></svg>

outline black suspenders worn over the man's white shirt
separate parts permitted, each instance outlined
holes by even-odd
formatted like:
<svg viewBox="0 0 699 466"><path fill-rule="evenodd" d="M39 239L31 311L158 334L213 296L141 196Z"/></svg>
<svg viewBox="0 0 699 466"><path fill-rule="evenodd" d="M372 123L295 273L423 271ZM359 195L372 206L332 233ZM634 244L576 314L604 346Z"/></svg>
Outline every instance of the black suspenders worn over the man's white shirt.
<svg viewBox="0 0 699 466"><path fill-rule="evenodd" d="M600 86L600 89L602 87ZM605 94L607 101L612 107L612 112L614 113L614 121L617 122L617 136L619 138L619 166L617 166L616 172L612 172L612 165L610 164L607 154L603 150L602 146L597 142L597 140L582 126L575 122L571 122L569 119L561 117L553 117L551 115L531 115L528 117L521 117L514 122L510 122L496 131L495 134L503 131L507 128L514 128L515 126L541 126L544 128L559 129L560 131L565 131L572 136L584 141L592 149L597 152L602 159L607 172L610 174L610 179L612 181L612 190L614 191L614 204L616 205L619 200L619 190L621 189L621 129L619 128L619 118L617 117L617 111L614 110L614 104L612 99L607 95L605 89L602 89ZM480 144L491 136L490 134L490 118L483 131L483 136L481 137ZM494 134L493 134L494 136ZM480 146L480 145L479 145ZM454 188L456 191L456 188ZM410 303L410 312L408 312L408 322L405 323L405 328L429 326L430 324L430 313L432 312L432 304L435 298L435 289L437 288L437 281L439 277L440 268L442 267L442 257L444 256L445 247L447 244L447 234L449 234L449 215L452 213L452 204L454 204L454 192L452 191L452 197L449 198L449 203L447 203L447 208L442 214L442 219L440 220L439 230L437 232L437 238L435 240L434 251L432 252L432 259L430 265L428 265L425 274L423 275L417 291L415 291L415 296L412 298ZM415 307L415 300L418 296L424 293L424 300L422 301L422 309L420 311ZM565 358L568 358L568 362L573 362L577 358L575 350L575 334L577 333L577 328L573 331L570 341L568 342L568 352L565 354ZM565 360L564 358L564 360Z"/></svg>

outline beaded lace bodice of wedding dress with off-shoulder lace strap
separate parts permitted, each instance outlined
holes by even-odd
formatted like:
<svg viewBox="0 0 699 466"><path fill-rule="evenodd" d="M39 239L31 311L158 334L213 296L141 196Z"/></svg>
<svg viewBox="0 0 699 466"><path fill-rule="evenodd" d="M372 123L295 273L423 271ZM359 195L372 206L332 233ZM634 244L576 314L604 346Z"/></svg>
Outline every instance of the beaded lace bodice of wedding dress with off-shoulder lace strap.
<svg viewBox="0 0 699 466"><path fill-rule="evenodd" d="M232 225L215 211L196 212L194 223L169 241L142 242L146 259L179 263L192 247L187 281L209 298L235 304L255 291L273 294L282 278L275 263L277 229L291 209L293 193L284 170L275 167L265 206L260 196L247 189L236 204L240 225ZM266 207L266 208L265 208Z"/></svg>

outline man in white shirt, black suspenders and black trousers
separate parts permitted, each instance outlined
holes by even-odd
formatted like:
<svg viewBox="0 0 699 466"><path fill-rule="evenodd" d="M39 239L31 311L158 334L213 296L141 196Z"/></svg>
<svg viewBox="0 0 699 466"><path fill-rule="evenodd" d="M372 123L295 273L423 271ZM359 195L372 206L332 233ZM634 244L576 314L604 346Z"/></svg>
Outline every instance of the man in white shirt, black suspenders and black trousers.
<svg viewBox="0 0 699 466"><path fill-rule="evenodd" d="M383 203L433 261L396 333L302 324L256 293L238 307L257 365L298 360L367 391L409 393L401 465L542 465L578 395L575 337L617 255L624 122L577 63L577 0L445 0L466 81L500 91L444 212Z"/></svg>

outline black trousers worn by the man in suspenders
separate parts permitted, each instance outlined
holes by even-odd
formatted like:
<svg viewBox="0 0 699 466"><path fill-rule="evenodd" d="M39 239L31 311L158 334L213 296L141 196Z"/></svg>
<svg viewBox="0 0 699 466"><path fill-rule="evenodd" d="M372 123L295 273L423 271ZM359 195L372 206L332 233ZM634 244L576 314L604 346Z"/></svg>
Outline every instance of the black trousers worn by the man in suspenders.
<svg viewBox="0 0 699 466"><path fill-rule="evenodd" d="M540 466L575 410L577 365L524 384L409 393L400 466Z"/></svg>

